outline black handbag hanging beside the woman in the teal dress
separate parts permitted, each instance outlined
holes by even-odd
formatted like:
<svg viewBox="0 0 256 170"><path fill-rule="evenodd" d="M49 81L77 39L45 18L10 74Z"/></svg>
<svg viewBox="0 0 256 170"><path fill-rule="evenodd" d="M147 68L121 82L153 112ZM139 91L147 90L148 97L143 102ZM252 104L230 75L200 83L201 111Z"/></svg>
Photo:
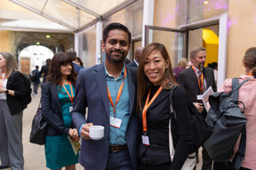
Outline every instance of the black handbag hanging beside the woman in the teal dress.
<svg viewBox="0 0 256 170"><path fill-rule="evenodd" d="M42 117L40 104L37 108L36 115L34 116L32 122L29 142L42 145L45 143L47 122Z"/></svg>

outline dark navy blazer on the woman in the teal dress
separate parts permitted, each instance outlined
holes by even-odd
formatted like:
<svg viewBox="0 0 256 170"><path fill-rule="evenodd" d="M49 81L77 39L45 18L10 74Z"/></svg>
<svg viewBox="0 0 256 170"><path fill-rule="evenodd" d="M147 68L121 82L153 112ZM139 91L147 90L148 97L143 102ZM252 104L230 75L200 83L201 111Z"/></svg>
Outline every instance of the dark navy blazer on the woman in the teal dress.
<svg viewBox="0 0 256 170"><path fill-rule="evenodd" d="M47 81L41 89L42 116L48 122L46 135L68 135L69 128L64 127L57 85Z"/></svg>

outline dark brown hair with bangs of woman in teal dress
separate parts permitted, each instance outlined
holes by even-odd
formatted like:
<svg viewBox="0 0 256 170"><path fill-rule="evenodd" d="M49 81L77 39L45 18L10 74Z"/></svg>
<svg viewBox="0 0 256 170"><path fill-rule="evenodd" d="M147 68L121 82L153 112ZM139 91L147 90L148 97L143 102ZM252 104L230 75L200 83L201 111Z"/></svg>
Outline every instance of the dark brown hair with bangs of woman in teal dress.
<svg viewBox="0 0 256 170"><path fill-rule="evenodd" d="M60 82L61 82L60 66L65 64L70 64L70 63L72 65L72 70L71 70L71 73L68 75L67 79L68 81L71 81L75 85L77 73L74 70L72 59L63 52L58 52L53 56L50 67L49 67L47 81L51 81L52 83L60 86Z"/></svg>

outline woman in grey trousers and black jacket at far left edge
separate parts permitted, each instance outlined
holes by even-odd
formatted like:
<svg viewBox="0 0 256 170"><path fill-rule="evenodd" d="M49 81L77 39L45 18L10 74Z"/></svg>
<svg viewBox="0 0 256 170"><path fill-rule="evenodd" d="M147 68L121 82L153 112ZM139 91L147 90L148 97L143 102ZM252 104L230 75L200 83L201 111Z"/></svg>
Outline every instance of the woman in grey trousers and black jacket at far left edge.
<svg viewBox="0 0 256 170"><path fill-rule="evenodd" d="M26 95L25 81L9 52L0 52L0 76L0 169L23 170L21 97Z"/></svg>

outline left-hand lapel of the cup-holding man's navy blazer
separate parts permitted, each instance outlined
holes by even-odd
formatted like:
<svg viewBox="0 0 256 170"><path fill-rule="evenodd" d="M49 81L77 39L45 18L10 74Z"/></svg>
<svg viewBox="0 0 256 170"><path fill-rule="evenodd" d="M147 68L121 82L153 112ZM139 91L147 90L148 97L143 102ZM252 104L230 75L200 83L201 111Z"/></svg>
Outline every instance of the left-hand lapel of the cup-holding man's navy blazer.
<svg viewBox="0 0 256 170"><path fill-rule="evenodd" d="M108 90L107 90L107 81L106 81L106 76L105 76L104 63L97 66L95 68L95 72L96 72L95 79L97 82L98 89L100 91L100 97L103 101L105 110L109 116Z"/></svg>

